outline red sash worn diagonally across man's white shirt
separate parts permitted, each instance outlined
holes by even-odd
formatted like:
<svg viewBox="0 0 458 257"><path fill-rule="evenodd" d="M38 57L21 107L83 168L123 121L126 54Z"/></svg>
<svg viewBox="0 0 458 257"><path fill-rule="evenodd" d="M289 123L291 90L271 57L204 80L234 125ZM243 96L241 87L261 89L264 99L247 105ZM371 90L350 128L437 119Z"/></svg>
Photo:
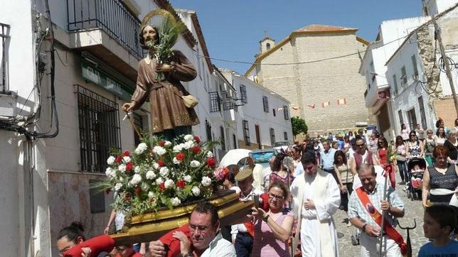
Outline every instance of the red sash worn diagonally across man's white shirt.
<svg viewBox="0 0 458 257"><path fill-rule="evenodd" d="M380 212L378 212L378 210L373 206L371 199L369 199L368 194L366 193L366 191L363 190L363 187L359 187L356 189L356 195L358 195L358 198L363 203L364 209L366 209L366 212L368 212L373 221L381 227L382 214L380 214ZM386 234L390 236L390 239L393 239L396 242L396 244L398 244L401 253L405 255L405 253L407 253L407 244L405 244L403 236L401 236L399 232L396 231L396 229L393 228L393 226L391 226L391 224L386 219L383 231L385 231Z"/></svg>

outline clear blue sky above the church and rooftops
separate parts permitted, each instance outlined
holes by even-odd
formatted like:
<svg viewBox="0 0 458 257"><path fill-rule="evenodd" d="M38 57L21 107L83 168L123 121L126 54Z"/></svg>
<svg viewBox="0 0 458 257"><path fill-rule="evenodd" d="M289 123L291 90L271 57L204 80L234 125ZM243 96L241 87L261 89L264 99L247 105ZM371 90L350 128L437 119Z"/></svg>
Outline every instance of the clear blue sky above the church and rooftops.
<svg viewBox="0 0 458 257"><path fill-rule="evenodd" d="M421 0L169 0L174 8L197 12L211 58L254 62L259 40L279 42L310 24L358 28L373 41L382 21L421 15ZM250 65L212 60L240 73Z"/></svg>

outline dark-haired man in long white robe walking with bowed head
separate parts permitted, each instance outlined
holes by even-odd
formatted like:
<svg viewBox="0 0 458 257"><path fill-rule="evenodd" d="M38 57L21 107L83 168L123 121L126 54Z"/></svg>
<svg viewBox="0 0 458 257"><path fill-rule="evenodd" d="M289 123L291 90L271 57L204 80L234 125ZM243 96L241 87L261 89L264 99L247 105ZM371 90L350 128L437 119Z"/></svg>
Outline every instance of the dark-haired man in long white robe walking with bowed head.
<svg viewBox="0 0 458 257"><path fill-rule="evenodd" d="M338 257L337 232L332 215L339 209L339 186L331 173L319 170L315 153L302 155L304 174L291 185L293 211L298 218L293 246L301 240L302 256Z"/></svg>

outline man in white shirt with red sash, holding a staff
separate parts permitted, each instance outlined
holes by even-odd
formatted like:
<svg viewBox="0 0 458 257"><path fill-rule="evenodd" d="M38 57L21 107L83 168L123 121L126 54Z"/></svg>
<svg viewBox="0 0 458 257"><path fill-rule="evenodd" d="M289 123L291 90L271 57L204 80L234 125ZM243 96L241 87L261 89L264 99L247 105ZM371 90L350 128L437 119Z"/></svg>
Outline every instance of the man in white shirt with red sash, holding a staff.
<svg viewBox="0 0 458 257"><path fill-rule="evenodd" d="M358 187L348 201L348 219L361 229L361 257L379 256L380 236L383 236L383 256L403 256L406 245L395 226L396 218L404 216L404 202L393 187L388 187L387 200L383 201L383 184L376 182L373 165L362 164L358 175L363 186ZM383 211L386 211L385 228L380 235Z"/></svg>

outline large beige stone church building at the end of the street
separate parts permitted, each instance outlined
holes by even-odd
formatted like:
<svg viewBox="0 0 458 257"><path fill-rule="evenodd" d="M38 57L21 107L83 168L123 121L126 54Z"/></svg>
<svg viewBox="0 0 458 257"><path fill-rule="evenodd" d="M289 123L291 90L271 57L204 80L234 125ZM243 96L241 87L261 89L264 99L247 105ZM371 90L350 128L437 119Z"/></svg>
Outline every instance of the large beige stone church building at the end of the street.
<svg viewBox="0 0 458 257"><path fill-rule="evenodd" d="M310 25L279 43L266 37L245 76L291 101L292 116L312 133L355 129L368 123L366 80L358 73L368 42L356 31Z"/></svg>

